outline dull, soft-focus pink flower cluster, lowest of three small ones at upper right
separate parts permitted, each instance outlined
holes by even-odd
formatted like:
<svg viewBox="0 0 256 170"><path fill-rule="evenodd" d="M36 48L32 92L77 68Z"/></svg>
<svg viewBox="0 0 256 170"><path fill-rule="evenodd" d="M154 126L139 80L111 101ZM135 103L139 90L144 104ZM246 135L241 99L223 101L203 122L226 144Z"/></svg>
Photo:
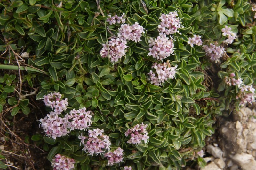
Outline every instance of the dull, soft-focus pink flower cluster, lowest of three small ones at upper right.
<svg viewBox="0 0 256 170"><path fill-rule="evenodd" d="M220 58L224 54L224 48L221 46L216 46L214 44L210 44L210 46L204 45L203 46L206 55L210 57L210 60L214 61L215 63L220 62Z"/></svg>

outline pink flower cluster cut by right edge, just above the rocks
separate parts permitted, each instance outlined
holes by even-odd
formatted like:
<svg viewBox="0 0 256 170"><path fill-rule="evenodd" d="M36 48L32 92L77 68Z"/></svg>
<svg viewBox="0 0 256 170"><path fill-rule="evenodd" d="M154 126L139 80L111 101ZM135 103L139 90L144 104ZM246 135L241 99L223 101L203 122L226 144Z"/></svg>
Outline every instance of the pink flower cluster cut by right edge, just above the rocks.
<svg viewBox="0 0 256 170"><path fill-rule="evenodd" d="M255 89L252 85L243 85L240 87L236 99L240 99L239 105L244 106L246 103L255 102Z"/></svg>

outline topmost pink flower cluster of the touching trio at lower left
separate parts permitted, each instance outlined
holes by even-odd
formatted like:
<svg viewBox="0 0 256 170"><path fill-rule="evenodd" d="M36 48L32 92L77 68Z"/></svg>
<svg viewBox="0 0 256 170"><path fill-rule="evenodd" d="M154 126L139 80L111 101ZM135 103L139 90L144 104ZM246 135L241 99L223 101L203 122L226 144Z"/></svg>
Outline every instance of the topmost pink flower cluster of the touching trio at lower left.
<svg viewBox="0 0 256 170"><path fill-rule="evenodd" d="M44 95L44 104L54 109L56 114L61 114L61 112L67 109L66 106L68 105L68 99L60 100L61 96L60 92Z"/></svg>

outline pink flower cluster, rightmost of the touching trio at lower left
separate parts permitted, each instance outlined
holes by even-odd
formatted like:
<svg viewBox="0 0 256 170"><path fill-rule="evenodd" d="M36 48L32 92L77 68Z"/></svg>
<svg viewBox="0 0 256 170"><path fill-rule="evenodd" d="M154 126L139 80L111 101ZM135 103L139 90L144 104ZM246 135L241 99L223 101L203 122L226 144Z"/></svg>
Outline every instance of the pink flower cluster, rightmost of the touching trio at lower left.
<svg viewBox="0 0 256 170"><path fill-rule="evenodd" d="M78 129L84 130L91 126L92 124L92 115L91 111L86 111L86 108L82 109L73 109L67 115L68 120L70 120L70 130Z"/></svg>

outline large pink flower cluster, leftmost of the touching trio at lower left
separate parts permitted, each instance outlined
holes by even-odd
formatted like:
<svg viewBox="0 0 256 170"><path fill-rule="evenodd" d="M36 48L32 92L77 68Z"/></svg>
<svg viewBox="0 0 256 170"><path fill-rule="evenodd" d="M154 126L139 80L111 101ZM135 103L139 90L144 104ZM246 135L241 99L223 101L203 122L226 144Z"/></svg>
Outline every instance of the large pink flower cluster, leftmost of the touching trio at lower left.
<svg viewBox="0 0 256 170"><path fill-rule="evenodd" d="M57 137L65 136L69 133L68 128L70 122L67 117L61 118L55 112L50 112L44 119L39 120L43 127L46 136L56 139Z"/></svg>

